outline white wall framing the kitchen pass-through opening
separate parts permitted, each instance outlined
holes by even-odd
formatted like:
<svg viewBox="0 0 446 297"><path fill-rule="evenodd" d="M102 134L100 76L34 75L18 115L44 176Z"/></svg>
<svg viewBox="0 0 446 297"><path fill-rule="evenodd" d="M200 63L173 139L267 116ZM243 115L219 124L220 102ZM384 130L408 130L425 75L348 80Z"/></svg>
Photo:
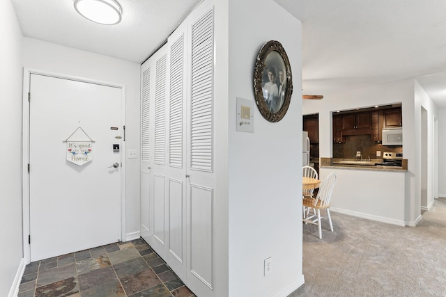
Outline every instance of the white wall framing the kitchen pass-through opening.
<svg viewBox="0 0 446 297"><path fill-rule="evenodd" d="M415 225L420 220L420 104L415 102L415 81L405 79L383 83L367 88L323 94L322 100L304 100L303 114L319 113L319 155L332 156L331 111L355 109L401 102L403 112L403 153L408 159L405 188L406 225ZM415 107L417 109L415 109ZM358 175L359 176L359 175ZM351 193L360 193L354 184ZM333 201L336 197L333 196Z"/></svg>

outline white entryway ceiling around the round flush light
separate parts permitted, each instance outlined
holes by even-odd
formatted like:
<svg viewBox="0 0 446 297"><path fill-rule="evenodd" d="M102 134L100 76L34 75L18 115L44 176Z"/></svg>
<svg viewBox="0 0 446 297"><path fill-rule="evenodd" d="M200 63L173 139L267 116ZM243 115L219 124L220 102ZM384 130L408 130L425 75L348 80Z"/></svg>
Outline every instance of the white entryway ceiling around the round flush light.
<svg viewBox="0 0 446 297"><path fill-rule="evenodd" d="M24 36L141 63L201 0L118 0L123 19L113 26L85 19L74 0L10 1Z"/></svg>

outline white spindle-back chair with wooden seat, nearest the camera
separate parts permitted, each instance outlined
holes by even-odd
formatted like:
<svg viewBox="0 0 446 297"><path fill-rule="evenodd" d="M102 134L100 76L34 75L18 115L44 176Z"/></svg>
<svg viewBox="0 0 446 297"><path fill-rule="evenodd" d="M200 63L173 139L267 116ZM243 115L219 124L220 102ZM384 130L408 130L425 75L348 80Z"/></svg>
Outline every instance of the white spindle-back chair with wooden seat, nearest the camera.
<svg viewBox="0 0 446 297"><path fill-rule="evenodd" d="M318 225L319 239L322 239L321 219L324 218L321 216L321 209L325 209L325 211L327 211L328 222L330 223L330 230L333 232L332 218L330 216L330 199L332 197L332 192L336 179L337 179L336 174L334 172L330 173L330 175L328 175L328 177L325 177L323 182L321 182L321 186L319 187L319 191L318 194L316 195L316 198L313 197L303 198L302 202L303 207L307 207L308 210L309 209L314 210L314 214L312 214L312 216L309 216L307 212L307 216L303 218L303 221L305 224L310 223Z"/></svg>

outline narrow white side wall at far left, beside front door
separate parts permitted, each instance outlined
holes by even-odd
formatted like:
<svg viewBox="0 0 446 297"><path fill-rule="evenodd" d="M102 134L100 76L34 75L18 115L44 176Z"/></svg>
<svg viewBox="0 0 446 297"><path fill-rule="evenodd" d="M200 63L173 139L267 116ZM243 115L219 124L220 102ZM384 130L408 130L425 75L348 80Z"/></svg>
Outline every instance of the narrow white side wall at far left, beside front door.
<svg viewBox="0 0 446 297"><path fill-rule="evenodd" d="M13 6L0 1L0 296L13 289L23 258L21 48L22 31Z"/></svg>

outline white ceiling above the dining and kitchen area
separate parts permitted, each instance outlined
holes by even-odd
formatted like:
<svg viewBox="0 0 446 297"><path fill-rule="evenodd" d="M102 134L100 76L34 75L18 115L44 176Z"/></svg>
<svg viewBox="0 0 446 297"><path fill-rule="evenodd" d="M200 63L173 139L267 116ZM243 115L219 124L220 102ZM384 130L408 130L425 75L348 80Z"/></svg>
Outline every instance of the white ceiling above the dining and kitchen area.
<svg viewBox="0 0 446 297"><path fill-rule="evenodd" d="M302 21L306 94L446 71L444 0L275 1ZM446 74L418 81L446 107Z"/></svg>

